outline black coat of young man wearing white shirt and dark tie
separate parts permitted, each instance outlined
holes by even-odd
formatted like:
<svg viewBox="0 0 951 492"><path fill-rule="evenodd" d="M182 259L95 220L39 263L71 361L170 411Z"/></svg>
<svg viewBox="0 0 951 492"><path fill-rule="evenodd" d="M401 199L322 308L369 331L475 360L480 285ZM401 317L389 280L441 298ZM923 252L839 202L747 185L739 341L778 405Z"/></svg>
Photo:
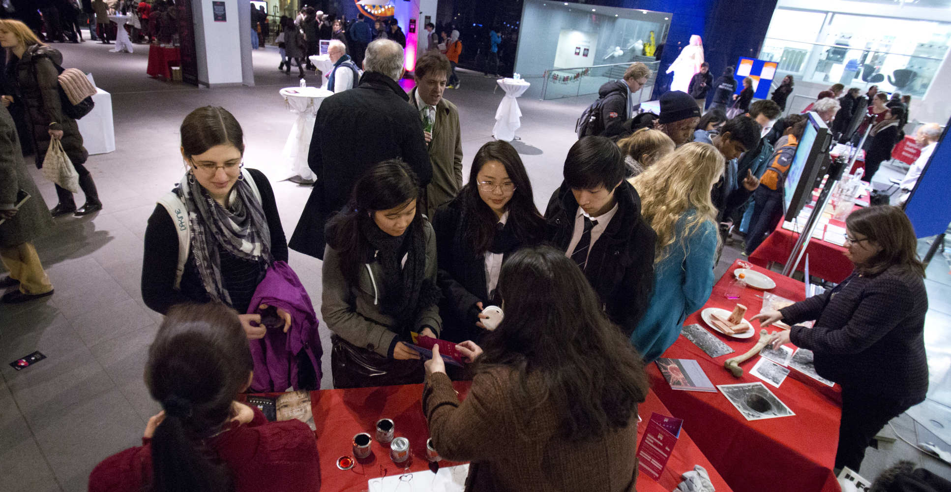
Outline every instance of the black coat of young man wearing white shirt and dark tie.
<svg viewBox="0 0 951 492"><path fill-rule="evenodd" d="M611 321L631 337L650 303L657 234L641 217L641 198L630 183L622 181L614 190L614 198L617 212L592 245L585 277ZM545 211L548 239L562 251L572 242L577 211L572 189L562 183Z"/></svg>

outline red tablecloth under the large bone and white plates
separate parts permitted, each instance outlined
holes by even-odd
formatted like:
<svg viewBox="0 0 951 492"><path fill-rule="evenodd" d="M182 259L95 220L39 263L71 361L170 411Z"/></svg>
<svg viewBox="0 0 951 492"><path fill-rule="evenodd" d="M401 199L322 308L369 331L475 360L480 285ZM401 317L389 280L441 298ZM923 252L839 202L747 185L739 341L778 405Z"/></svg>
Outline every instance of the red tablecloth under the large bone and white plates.
<svg viewBox="0 0 951 492"><path fill-rule="evenodd" d="M736 302L728 300L724 293L739 263L737 261L730 266L727 274L713 286L713 293L705 308L733 308ZM802 283L763 268L754 266L753 269L766 273L776 282L771 293L790 301L805 298ZM739 302L747 306L747 318L762 309L763 299L758 297L762 294L762 291L747 288L740 295ZM700 319L700 311L690 315L685 325L693 323L708 327ZM777 328L769 329L772 331ZM696 360L713 384L761 381L748 374L758 356L741 365L744 368L741 378L734 378L723 367L724 361L746 353L756 344L758 335L737 340L720 335L711 328L708 330L736 351L711 359L699 347L680 337L664 353L664 357ZM796 415L747 421L720 392L670 389L670 384L660 374L656 364L650 364L648 374L652 390L673 410L674 417L684 419L684 428L689 431L694 443L734 490L840 490L832 474L841 415L841 406L837 403L838 385L830 388L793 369L779 388L768 384L767 387Z"/></svg>

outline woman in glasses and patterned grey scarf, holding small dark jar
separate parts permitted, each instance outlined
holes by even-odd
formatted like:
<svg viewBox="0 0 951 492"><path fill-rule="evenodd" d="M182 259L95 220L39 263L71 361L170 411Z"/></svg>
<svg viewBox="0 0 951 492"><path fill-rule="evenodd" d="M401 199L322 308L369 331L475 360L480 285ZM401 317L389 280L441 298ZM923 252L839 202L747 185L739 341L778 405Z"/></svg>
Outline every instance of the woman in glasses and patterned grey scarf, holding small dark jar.
<svg viewBox="0 0 951 492"><path fill-rule="evenodd" d="M184 302L222 302L249 339L261 339L261 315L244 313L267 268L287 261L274 191L261 171L243 168L243 131L226 109L195 109L181 133L187 170L148 218L143 300L162 314ZM286 331L290 316L278 314Z"/></svg>

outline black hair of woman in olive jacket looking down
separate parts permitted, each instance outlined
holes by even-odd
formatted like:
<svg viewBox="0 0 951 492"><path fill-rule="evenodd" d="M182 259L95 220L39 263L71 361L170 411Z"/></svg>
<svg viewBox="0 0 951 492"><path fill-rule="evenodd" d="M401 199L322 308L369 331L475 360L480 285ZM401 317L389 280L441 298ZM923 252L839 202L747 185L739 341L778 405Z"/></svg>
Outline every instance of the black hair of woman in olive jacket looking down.
<svg viewBox="0 0 951 492"><path fill-rule="evenodd" d="M324 236L327 245L340 251L340 266L343 278L357 283L360 265L373 259L374 247L360 231L363 221L373 221L373 213L407 204L419 197L419 180L416 173L400 159L388 159L370 168L354 184L347 205L334 214ZM419 221L421 207L417 203L416 215L409 231L423 234Z"/></svg>

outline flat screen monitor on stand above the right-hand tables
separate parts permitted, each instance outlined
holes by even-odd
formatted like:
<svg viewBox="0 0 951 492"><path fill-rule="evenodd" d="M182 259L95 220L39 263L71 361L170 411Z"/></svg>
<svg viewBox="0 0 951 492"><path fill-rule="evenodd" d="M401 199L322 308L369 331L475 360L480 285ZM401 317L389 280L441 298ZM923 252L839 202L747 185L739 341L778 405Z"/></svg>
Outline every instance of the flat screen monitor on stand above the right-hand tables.
<svg viewBox="0 0 951 492"><path fill-rule="evenodd" d="M815 111L805 114L807 122L799 146L792 158L792 164L786 171L783 182L783 207L786 221L792 221L799 211L809 203L812 189L821 179L820 170L827 167L829 142L831 135L822 118Z"/></svg>

